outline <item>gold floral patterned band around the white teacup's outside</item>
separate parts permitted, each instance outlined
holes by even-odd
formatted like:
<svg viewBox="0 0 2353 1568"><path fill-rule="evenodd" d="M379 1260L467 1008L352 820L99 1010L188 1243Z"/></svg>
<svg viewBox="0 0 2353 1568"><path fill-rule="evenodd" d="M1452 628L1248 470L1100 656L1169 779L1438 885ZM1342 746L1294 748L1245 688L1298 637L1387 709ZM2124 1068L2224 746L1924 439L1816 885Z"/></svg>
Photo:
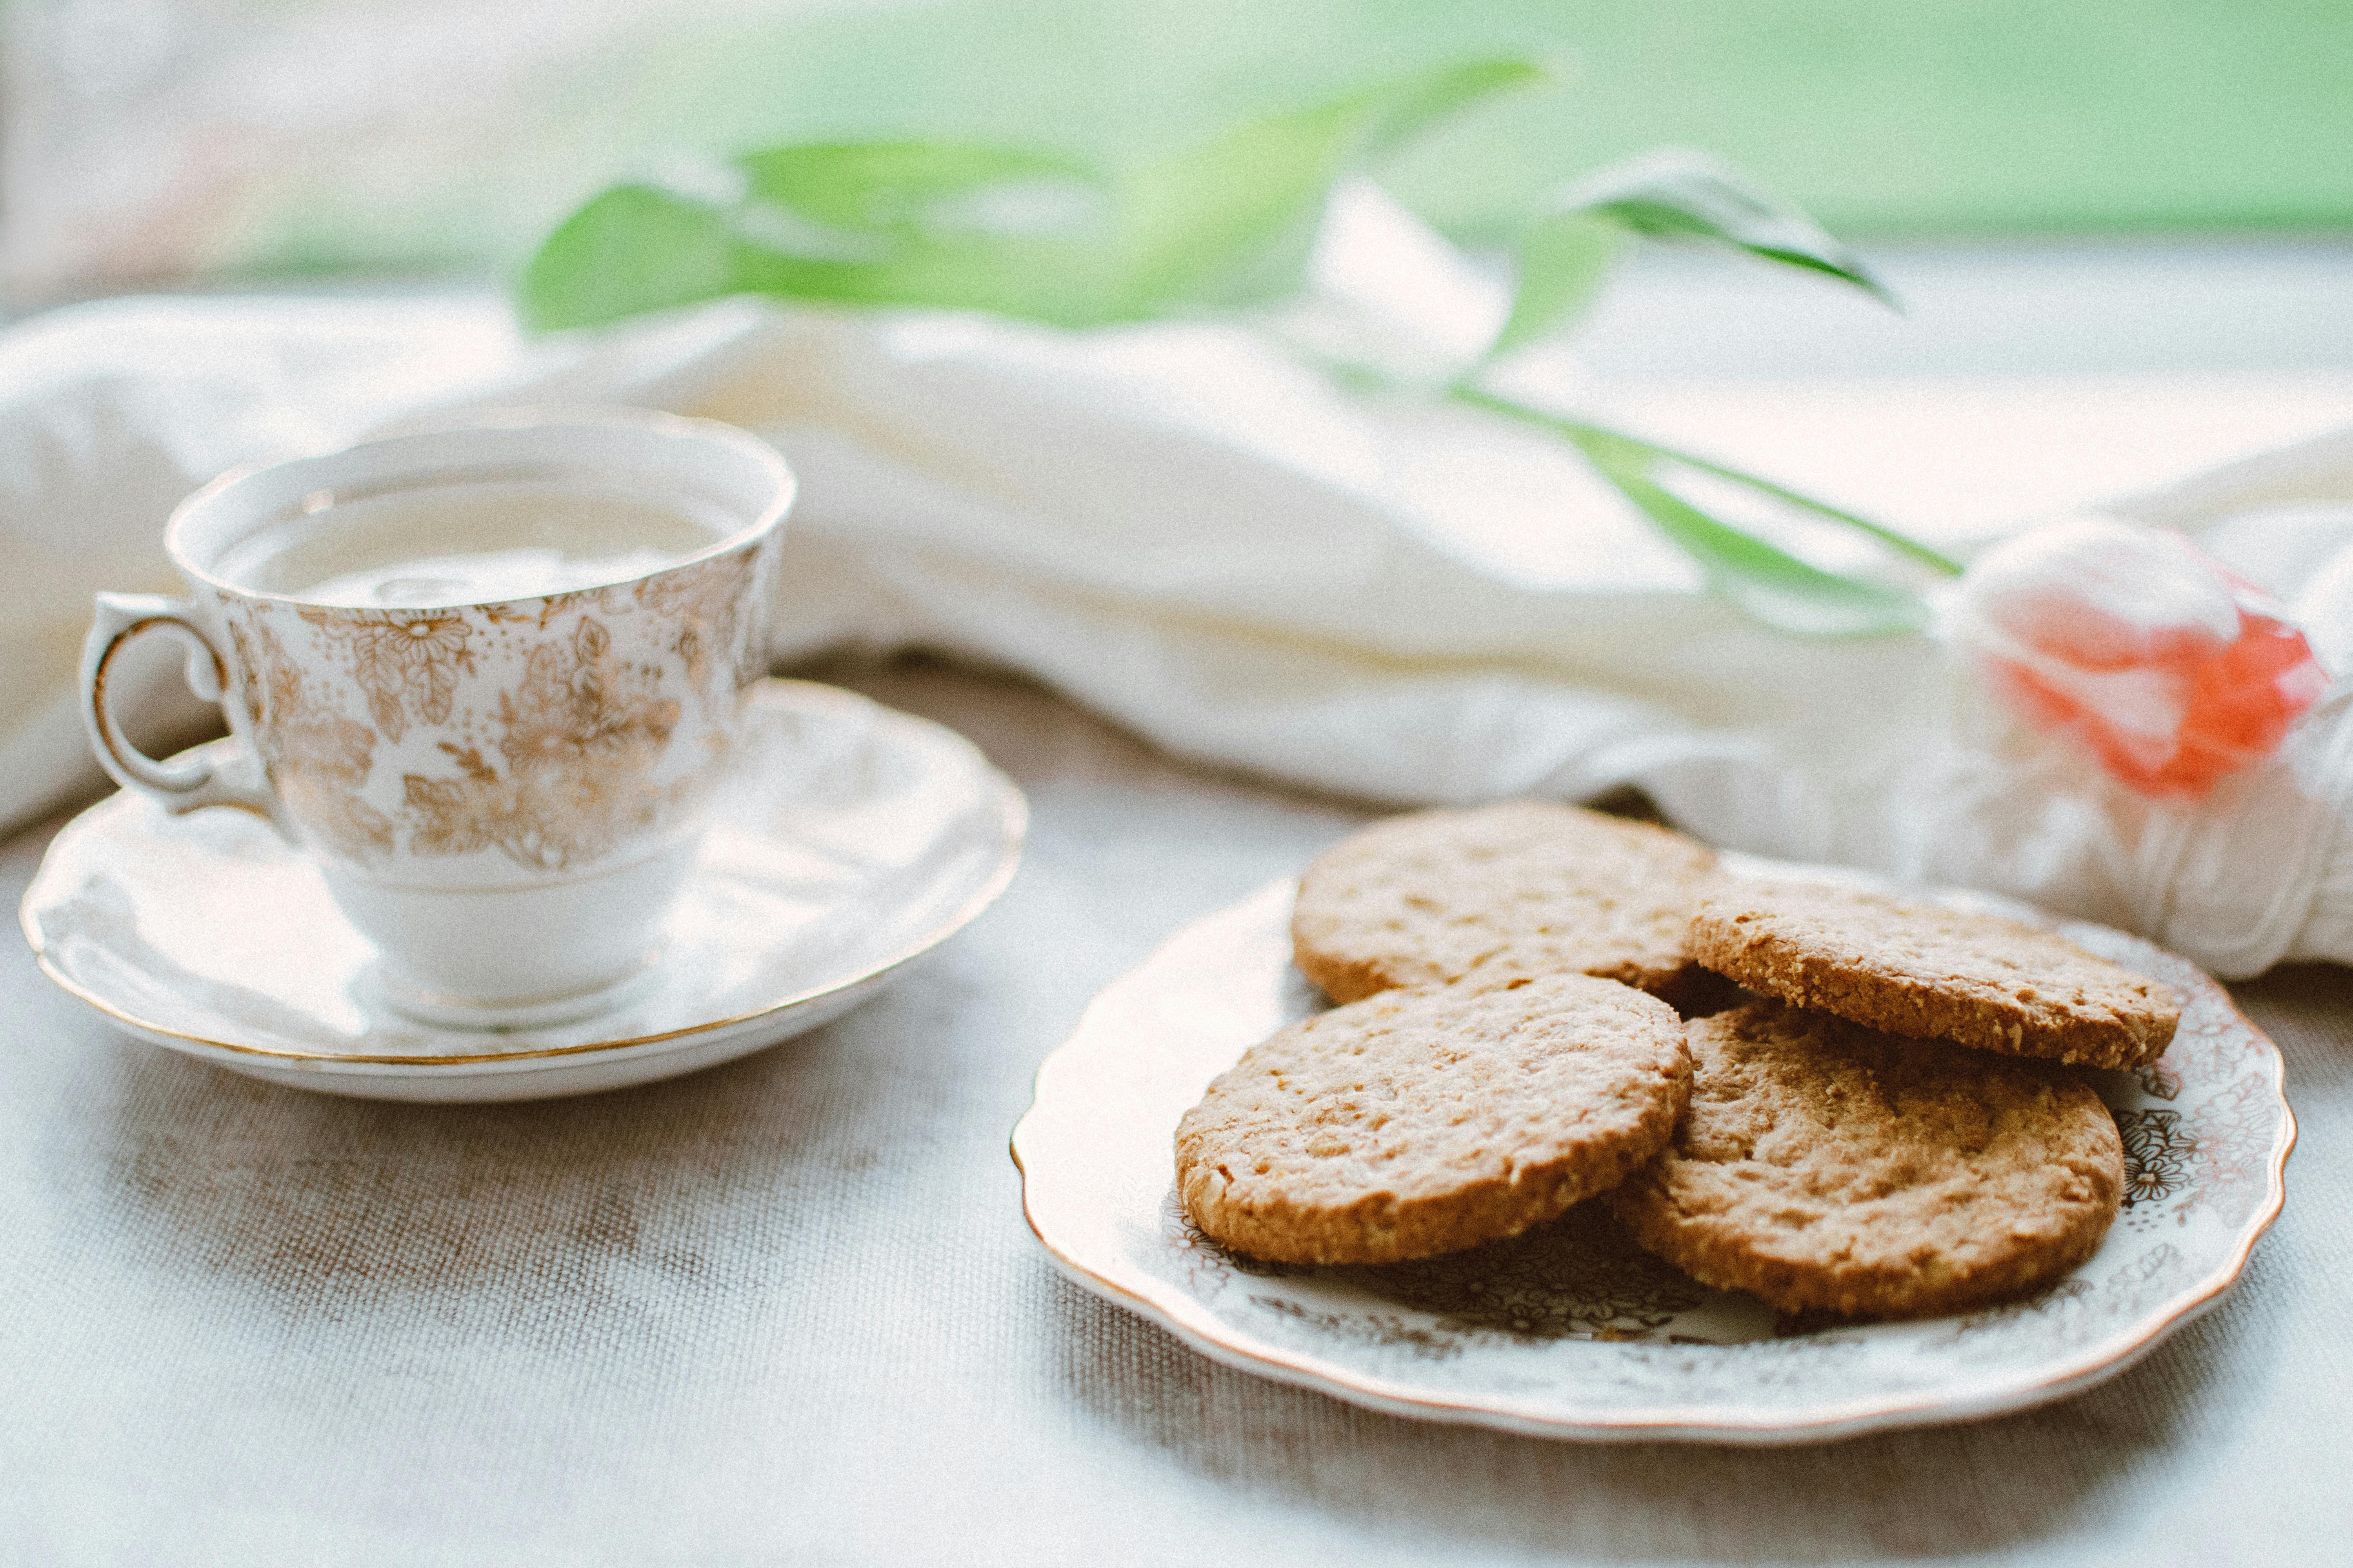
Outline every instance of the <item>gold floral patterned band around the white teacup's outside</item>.
<svg viewBox="0 0 2353 1568"><path fill-rule="evenodd" d="M322 851L572 872L708 790L725 724L687 724L689 703L718 715L765 672L760 562L746 548L633 585L454 609L219 604L254 750ZM692 757L673 757L682 731Z"/></svg>

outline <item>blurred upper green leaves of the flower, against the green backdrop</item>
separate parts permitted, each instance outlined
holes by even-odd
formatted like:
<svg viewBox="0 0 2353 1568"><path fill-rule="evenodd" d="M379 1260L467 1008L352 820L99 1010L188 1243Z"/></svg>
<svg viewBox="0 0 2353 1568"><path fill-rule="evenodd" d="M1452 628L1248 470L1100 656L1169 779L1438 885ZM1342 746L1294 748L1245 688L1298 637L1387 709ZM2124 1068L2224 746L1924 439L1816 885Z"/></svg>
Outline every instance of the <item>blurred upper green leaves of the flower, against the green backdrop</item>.
<svg viewBox="0 0 2353 1568"><path fill-rule="evenodd" d="M1254 115L1115 174L979 141L760 148L692 181L605 188L522 268L515 303L541 329L729 294L991 310L1054 327L1280 306L1306 287L1339 181L1548 80L1522 59L1454 61ZM1513 306L1487 355L1569 327L1628 237L1720 244L1894 303L1805 212L1706 153L1666 148L1562 183L1520 214Z"/></svg>

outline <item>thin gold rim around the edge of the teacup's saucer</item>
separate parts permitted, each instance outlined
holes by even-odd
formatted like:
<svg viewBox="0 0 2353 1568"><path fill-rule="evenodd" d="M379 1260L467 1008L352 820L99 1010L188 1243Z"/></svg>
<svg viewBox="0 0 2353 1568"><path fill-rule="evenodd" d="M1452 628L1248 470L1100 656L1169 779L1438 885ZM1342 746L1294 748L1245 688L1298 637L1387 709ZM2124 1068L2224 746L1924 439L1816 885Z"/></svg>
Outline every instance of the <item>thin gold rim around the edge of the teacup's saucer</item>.
<svg viewBox="0 0 2353 1568"><path fill-rule="evenodd" d="M776 691L802 691L802 693L824 691L824 693L831 693L831 696L847 696L847 698L854 698L859 703L871 701L871 698L856 696L852 691L842 691L840 686L826 686L821 682L793 682L793 679L767 677L767 682L762 682L762 684L767 684L769 689L776 689ZM880 708L880 703L875 703L875 708ZM26 947L33 950L33 961L40 964L40 971L45 976L49 976L49 980L56 987L64 990L66 994L71 994L73 999L82 1001L85 1006L104 1013L106 1018L113 1018L115 1023L127 1025L132 1030L139 1030L144 1034L158 1034L158 1037L179 1039L179 1041L186 1041L186 1044L193 1044L193 1046L207 1046L212 1051L233 1051L238 1056L261 1056L261 1058L271 1058L271 1060L329 1063L329 1065L334 1065L334 1063L351 1063L351 1065L379 1065L379 1067L478 1067L478 1065L485 1065L485 1063L527 1063L527 1060L548 1060L548 1058L562 1058L562 1056L591 1056L591 1053L598 1053L598 1051L626 1051L631 1046L656 1046L656 1044L673 1041L673 1039L692 1039L696 1034L711 1034L715 1030L732 1030L736 1025L746 1025L746 1023L753 1023L753 1020L760 1020L760 1018L769 1018L772 1013L781 1013L781 1011L793 1009L793 1006L805 1006L805 1004L819 1001L824 997L838 997L840 992L856 990L859 985L878 980L880 976L889 973L892 969L899 969L908 959L915 959L922 952L929 952L932 947L936 947L939 943L948 940L951 936L955 936L958 931L962 931L967 924L972 924L972 919L976 919L981 914L981 910L986 910L988 905L993 905L998 900L998 896L1012 884L1014 872L1021 867L1021 851L1024 851L1024 846L1028 842L1028 799L1021 795L1019 785L1014 785L1009 778L1005 778L1005 773L1000 773L995 769L995 764L991 764L986 759L986 755L981 755L981 750L976 745L972 745L969 741L965 741L965 736L955 733L946 724L936 724L934 719L925 719L920 715L908 715L908 712L896 712L896 710L885 710L885 712L892 712L894 717L906 719L911 724L925 724L925 726L936 729L936 731L941 731L946 736L953 736L958 741L958 745L972 748L972 752L981 759L981 769L984 769L984 776L991 783L991 795L995 797L998 816L1000 816L1000 823L1002 823L1002 830L1005 830L1005 837L1002 837L1005 849L1000 851L995 867L991 867L988 877L976 886L976 891L969 898L965 898L946 919L941 919L939 924L934 924L932 929L927 929L920 938L901 945L889 957L885 957L885 959L880 959L875 964L868 964L866 969L856 971L854 976L845 976L845 978L831 980L826 985L816 985L816 987L809 987L809 990L800 990L800 992L779 997L776 1001L769 1001L765 1006L755 1006L755 1009L748 1009L748 1011L741 1011L741 1013L729 1013L725 1018L711 1018L711 1020L704 1020L704 1023L692 1023L692 1025L685 1025L685 1027L678 1027L678 1030L661 1030L656 1034L631 1034L631 1037L624 1037L624 1039L595 1039L595 1041L584 1041L584 1044L574 1044L574 1046L536 1046L536 1048L529 1048L529 1051L475 1051L475 1053L466 1053L466 1056L416 1056L416 1053L367 1053L367 1051L294 1051L294 1048L280 1048L280 1046L240 1046L240 1044L228 1041L228 1039L209 1039L205 1034L191 1034L186 1030L174 1030L169 1025L160 1025L160 1023L153 1023L148 1018L139 1018L134 1013L125 1013L122 1009L113 1006L111 1001L96 997L87 985L82 985L82 983L73 980L71 976L66 976L52 961L45 943L40 940L40 933L33 926L33 891L40 886L40 875L38 872L33 877L33 884L26 889L24 900L16 905L16 929L24 931ZM181 757L198 757L200 752L233 750L235 745L238 745L235 741L226 741L226 738L224 741L207 741L205 745L188 748L186 752L179 752L179 755ZM59 832L71 832L75 823L80 823L82 818L89 816L89 811L101 811L108 804L113 804L115 799L118 797L111 795L104 802L99 802L96 806L89 806L87 811L82 811L80 816L75 816L73 823L68 823ZM45 856L45 860L47 860L47 856Z"/></svg>

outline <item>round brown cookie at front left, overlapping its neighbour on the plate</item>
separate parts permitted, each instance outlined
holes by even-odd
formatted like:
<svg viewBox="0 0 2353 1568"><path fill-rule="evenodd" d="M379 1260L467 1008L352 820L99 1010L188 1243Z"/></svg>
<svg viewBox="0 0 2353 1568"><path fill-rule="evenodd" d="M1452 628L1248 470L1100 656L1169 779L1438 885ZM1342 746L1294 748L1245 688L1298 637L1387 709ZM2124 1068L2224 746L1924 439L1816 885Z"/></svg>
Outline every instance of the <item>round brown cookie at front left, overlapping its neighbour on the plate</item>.
<svg viewBox="0 0 2353 1568"><path fill-rule="evenodd" d="M1176 1124L1176 1194L1275 1262L1452 1253L1614 1187L1689 1077L1675 1009L1617 980L1381 992L1221 1072Z"/></svg>

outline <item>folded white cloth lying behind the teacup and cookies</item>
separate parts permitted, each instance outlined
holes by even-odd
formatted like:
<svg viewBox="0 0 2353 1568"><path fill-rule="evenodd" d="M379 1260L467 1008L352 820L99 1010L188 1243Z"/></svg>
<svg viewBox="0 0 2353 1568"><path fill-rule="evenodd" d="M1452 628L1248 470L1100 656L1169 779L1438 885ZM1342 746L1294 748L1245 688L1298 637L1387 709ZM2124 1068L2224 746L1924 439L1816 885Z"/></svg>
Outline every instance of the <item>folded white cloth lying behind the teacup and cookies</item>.
<svg viewBox="0 0 2353 1568"><path fill-rule="evenodd" d="M2198 806L1984 710L1925 637L1711 597L1565 449L1238 327L727 303L522 343L489 301L129 301L0 336L0 827L96 788L73 651L195 484L466 407L626 402L802 477L776 658L1028 670L1188 757L1381 802L1645 790L1725 846L2031 898L2224 976L2353 961L2353 684ZM2353 654L2353 433L2118 503ZM1894 517L1894 522L1906 522ZM2024 522L2024 520L2021 520Z"/></svg>

